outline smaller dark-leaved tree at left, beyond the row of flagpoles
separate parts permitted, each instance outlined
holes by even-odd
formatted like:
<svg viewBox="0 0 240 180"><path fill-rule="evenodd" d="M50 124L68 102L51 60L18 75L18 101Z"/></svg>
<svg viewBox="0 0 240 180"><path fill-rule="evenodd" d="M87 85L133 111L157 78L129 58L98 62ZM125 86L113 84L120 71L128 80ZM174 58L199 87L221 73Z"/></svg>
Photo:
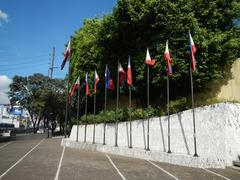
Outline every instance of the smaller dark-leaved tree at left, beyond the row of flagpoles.
<svg viewBox="0 0 240 180"><path fill-rule="evenodd" d="M63 80L50 79L42 74L33 74L29 77L14 76L8 95L12 105L20 104L28 110L34 132L44 119L51 123L54 130L57 123L63 127L64 84Z"/></svg>

